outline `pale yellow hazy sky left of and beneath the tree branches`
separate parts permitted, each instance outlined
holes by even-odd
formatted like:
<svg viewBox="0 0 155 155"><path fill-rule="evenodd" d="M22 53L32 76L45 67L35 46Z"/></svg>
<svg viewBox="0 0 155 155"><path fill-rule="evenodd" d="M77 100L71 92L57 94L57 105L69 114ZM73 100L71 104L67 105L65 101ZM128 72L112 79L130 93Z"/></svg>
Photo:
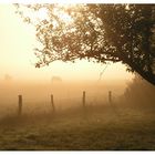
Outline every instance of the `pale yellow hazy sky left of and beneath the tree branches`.
<svg viewBox="0 0 155 155"><path fill-rule="evenodd" d="M100 72L105 65L80 61L78 63L54 62L49 66L35 69L33 63L35 56L34 29L23 23L14 13L12 4L0 4L0 80L4 74L10 74L14 80L44 81L53 75L59 75L63 80L99 80ZM132 78L121 63L111 64L104 72L104 79Z"/></svg>

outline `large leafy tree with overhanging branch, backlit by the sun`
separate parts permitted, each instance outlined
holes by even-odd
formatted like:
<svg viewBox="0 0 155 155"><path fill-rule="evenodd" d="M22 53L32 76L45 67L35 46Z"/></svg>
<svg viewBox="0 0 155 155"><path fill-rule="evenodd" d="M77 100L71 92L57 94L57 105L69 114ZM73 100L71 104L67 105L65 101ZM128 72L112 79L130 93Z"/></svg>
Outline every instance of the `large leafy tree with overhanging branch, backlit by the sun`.
<svg viewBox="0 0 155 155"><path fill-rule="evenodd" d="M37 68L61 61L89 59L126 64L155 85L155 6L153 4L34 4L48 18L35 23ZM18 6L18 9L20 7ZM20 11L19 11L20 12ZM63 14L68 17L64 18ZM65 19L65 20L64 20ZM32 23L32 18L24 20Z"/></svg>

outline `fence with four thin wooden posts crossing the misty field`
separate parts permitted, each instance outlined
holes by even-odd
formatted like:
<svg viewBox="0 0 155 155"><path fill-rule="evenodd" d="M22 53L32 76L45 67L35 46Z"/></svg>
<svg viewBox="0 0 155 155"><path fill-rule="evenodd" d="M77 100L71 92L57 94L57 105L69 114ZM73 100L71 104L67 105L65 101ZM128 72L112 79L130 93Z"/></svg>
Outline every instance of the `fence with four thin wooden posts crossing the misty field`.
<svg viewBox="0 0 155 155"><path fill-rule="evenodd" d="M37 95L37 94L35 94ZM31 96L25 94L19 94L13 96L12 99L16 101L11 104L6 104L1 106L1 114L2 111L4 114L34 114L34 113L51 113L51 112L59 112L70 107L85 107L85 106L95 106L95 105L104 105L104 104L112 104L117 99L117 93L113 91L105 91L104 93L94 91L79 91L76 93L66 93L65 95L59 95L59 93L46 94L37 97L31 94ZM40 100L41 99L41 100Z"/></svg>

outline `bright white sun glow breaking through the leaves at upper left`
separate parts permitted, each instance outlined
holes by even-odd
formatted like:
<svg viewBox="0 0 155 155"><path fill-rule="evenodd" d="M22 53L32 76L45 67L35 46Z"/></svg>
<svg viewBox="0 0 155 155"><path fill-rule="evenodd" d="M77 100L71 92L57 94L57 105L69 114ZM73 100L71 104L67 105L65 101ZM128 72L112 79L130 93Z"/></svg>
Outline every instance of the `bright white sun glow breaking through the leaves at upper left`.
<svg viewBox="0 0 155 155"><path fill-rule="evenodd" d="M52 9L50 8L50 6L49 7L44 6L39 10L28 9L27 7L23 8L21 7L21 10L24 12L25 17L29 17L31 19L32 23L34 24L43 20L48 20L50 22L58 22L58 20L60 20L65 24L70 24L73 22L72 12L78 10L80 4L58 3L54 4L54 7L52 7L51 4Z"/></svg>

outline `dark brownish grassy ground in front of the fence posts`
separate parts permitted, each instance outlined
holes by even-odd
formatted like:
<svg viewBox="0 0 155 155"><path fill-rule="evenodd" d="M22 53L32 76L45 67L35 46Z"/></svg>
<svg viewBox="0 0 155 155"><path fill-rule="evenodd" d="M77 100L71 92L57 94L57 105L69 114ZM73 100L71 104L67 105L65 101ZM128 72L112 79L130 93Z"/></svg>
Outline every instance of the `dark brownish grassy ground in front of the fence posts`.
<svg viewBox="0 0 155 155"><path fill-rule="evenodd" d="M0 149L155 149L155 113L110 106L0 120Z"/></svg>

